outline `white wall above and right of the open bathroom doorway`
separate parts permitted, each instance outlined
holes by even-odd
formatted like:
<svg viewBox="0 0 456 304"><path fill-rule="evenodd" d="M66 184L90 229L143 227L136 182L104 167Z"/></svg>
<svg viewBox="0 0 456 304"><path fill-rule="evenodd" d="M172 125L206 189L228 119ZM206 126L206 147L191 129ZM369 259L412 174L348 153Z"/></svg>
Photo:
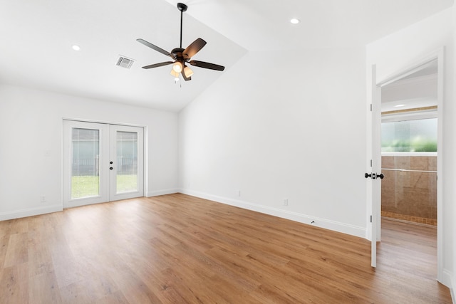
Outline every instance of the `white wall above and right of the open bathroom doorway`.
<svg viewBox="0 0 456 304"><path fill-rule="evenodd" d="M425 19L413 26L404 28L379 41L367 46L368 65L375 63L378 68L378 80L384 80L400 70L409 68L423 58L445 46L445 92L442 110L443 149L440 151L443 159L442 168L442 201L443 210L443 278L445 285L454 285L455 280L455 201L456 179L456 106L454 96L456 86L454 58L455 48L455 8L442 11L440 14ZM440 178L440 176L439 176Z"/></svg>

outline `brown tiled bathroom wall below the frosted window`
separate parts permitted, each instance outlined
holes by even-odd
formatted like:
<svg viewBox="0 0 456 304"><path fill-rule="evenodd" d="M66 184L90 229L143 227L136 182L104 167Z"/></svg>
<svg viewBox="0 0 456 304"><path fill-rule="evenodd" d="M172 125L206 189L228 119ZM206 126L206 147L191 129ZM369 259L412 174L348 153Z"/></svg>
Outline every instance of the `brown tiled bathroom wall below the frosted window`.
<svg viewBox="0 0 456 304"><path fill-rule="evenodd" d="M435 156L382 156L382 216L437 225L436 171Z"/></svg>

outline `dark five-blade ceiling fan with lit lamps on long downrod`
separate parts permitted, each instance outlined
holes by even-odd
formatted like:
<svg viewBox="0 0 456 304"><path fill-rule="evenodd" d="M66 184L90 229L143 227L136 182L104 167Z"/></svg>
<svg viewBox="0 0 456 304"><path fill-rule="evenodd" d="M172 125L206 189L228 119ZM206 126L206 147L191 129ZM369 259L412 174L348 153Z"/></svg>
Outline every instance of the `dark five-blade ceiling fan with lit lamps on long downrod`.
<svg viewBox="0 0 456 304"><path fill-rule="evenodd" d="M193 71L190 70L190 68L185 65L185 63L189 63L190 65L197 66L199 68L208 68L209 70L224 70L224 66L222 65L217 65L214 63L208 63L204 61L193 61L190 60L193 56L195 56L196 53L198 53L205 45L206 41L204 41L202 38L197 38L197 40L193 41L190 43L190 46L187 46L187 48L182 48L182 15L184 14L184 11L187 11L187 5L183 3L178 3L177 4L177 9L180 10L180 47L179 48L174 48L171 52L167 52L162 48L159 48L158 46L153 45L150 42L147 42L141 38L136 39L136 41L144 44L145 46L148 46L149 48L154 49L157 52L160 52L166 56L170 56L173 61L165 61L162 63L155 63L151 65L145 65L142 68L158 68L159 66L163 65L170 65L172 64L172 70L171 70L171 75L173 75L175 78L179 78L180 73L182 74L182 78L184 78L185 81L187 80L192 80L192 75Z"/></svg>

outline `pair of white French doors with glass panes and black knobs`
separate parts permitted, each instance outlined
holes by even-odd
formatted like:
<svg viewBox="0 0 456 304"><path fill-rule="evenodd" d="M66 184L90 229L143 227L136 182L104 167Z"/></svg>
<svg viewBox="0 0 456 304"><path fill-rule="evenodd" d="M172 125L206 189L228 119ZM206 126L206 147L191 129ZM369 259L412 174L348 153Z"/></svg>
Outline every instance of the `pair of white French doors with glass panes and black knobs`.
<svg viewBox="0 0 456 304"><path fill-rule="evenodd" d="M143 129L63 120L63 206L144 194Z"/></svg>

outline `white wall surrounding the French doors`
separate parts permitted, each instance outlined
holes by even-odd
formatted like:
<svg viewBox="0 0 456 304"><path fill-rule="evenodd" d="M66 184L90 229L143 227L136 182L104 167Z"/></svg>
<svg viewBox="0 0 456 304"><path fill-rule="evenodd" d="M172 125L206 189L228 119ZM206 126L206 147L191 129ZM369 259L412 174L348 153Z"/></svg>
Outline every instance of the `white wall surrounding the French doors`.
<svg viewBox="0 0 456 304"><path fill-rule="evenodd" d="M0 85L0 220L62 209L64 117L145 126L145 195L177 191L177 113Z"/></svg>

